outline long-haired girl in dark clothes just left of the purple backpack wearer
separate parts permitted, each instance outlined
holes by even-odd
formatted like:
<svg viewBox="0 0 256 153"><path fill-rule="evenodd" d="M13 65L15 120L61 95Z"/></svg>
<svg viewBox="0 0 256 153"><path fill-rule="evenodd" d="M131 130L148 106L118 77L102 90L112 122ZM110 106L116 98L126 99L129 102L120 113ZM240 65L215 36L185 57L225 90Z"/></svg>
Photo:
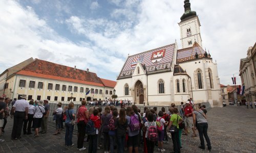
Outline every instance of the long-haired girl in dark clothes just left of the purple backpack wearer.
<svg viewBox="0 0 256 153"><path fill-rule="evenodd" d="M124 152L124 140L126 135L126 130L128 128L128 122L125 118L125 109L120 109L119 111L119 118L117 118L117 121L115 122L116 130L116 136L117 136L117 143L118 143L118 152L123 153Z"/></svg>

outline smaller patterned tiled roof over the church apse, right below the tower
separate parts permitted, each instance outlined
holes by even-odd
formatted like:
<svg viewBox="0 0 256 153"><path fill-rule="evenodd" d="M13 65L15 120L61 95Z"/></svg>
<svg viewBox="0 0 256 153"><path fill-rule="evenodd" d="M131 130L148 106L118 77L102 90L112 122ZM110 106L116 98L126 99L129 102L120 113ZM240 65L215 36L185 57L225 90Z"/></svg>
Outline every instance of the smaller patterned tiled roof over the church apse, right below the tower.
<svg viewBox="0 0 256 153"><path fill-rule="evenodd" d="M192 47L177 50L177 63L196 59L196 53L198 58L203 58L205 53L204 49L197 42Z"/></svg>

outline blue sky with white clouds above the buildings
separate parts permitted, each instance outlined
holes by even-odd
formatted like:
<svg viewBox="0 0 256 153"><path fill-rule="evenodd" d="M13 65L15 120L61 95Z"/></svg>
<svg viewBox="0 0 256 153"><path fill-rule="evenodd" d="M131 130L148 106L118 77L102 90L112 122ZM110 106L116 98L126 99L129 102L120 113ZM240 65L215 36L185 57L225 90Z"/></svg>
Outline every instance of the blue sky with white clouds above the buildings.
<svg viewBox="0 0 256 153"><path fill-rule="evenodd" d="M190 0L203 48L220 83L237 84L240 59L256 41L255 0ZM116 80L128 55L180 44L182 0L0 1L0 73L31 57Z"/></svg>

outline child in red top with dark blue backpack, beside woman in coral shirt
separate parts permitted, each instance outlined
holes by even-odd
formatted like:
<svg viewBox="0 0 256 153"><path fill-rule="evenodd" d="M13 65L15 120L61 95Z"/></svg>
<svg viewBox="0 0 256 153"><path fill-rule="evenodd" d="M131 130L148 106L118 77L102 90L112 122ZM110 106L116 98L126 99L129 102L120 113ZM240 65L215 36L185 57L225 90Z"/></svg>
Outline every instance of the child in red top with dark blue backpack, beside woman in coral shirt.
<svg viewBox="0 0 256 153"><path fill-rule="evenodd" d="M94 122L94 127L96 128L95 135L89 135L89 150L88 152L95 153L97 152L97 140L98 140L98 133L100 128L100 118L98 116L99 111L97 109L93 110L93 114L91 115L90 119Z"/></svg>

